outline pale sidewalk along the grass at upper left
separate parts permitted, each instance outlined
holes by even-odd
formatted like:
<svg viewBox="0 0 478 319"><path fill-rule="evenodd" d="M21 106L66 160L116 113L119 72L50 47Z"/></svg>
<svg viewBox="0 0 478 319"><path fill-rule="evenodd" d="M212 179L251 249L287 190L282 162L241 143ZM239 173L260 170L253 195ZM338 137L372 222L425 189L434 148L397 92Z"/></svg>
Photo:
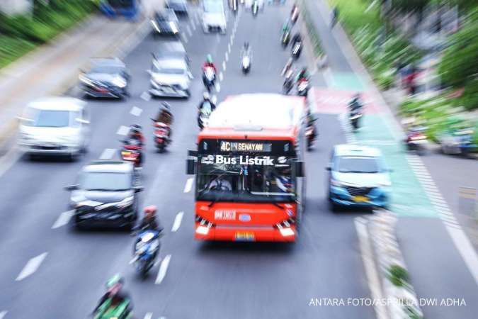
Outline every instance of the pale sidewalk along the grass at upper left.
<svg viewBox="0 0 478 319"><path fill-rule="evenodd" d="M143 18L134 23L93 15L52 43L0 69L0 145L15 133L16 116L26 103L63 94L76 83L79 69L87 67L90 57L121 57L122 50L146 35L146 17L162 3L163 0L145 2Z"/></svg>

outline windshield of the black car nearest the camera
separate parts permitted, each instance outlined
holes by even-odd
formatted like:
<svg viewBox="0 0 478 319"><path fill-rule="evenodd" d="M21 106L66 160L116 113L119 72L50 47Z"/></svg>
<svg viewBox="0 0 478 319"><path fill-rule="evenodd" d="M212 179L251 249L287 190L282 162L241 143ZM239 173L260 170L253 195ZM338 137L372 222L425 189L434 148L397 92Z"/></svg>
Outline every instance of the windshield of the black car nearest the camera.
<svg viewBox="0 0 478 319"><path fill-rule="evenodd" d="M85 172L79 179L79 188L86 191L126 191L131 189L130 174Z"/></svg>

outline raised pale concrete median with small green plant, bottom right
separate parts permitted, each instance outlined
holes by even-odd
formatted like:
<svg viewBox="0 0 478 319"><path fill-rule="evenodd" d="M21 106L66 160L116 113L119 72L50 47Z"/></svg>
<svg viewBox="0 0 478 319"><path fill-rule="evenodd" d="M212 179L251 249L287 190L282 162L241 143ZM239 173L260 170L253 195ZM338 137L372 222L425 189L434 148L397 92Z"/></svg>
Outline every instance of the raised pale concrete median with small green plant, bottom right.
<svg viewBox="0 0 478 319"><path fill-rule="evenodd" d="M377 297L377 293L374 293L377 291L378 296L382 295L380 299L383 302L375 305L377 318L423 318L419 298L409 282L409 272L397 240L395 232L397 216L389 211L380 210L375 211L374 216L355 218L355 222L363 225L363 231L358 232L358 235L365 268L375 267L377 274L377 280L373 280L368 272L372 297Z"/></svg>

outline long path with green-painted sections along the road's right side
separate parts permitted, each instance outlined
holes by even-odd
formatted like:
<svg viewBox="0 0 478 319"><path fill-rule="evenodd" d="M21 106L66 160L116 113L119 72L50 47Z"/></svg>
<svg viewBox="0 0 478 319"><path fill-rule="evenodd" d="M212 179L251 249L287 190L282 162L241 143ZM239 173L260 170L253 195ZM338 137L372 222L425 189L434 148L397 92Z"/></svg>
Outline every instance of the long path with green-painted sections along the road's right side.
<svg viewBox="0 0 478 319"><path fill-rule="evenodd" d="M394 169L392 211L399 216L397 235L418 296L465 298L467 302L467 307L425 306L425 318L474 318L478 311L478 305L473 302L478 296L478 273L477 267L473 267L477 258L470 240L443 201L421 159L406 155L402 149L403 130L345 31L339 24L334 30L329 28L331 11L326 0L305 1L315 17L315 28L329 57L329 89L342 89L348 94L364 91L373 100L374 112L370 113L368 107L365 110L363 129L348 137L379 147Z"/></svg>

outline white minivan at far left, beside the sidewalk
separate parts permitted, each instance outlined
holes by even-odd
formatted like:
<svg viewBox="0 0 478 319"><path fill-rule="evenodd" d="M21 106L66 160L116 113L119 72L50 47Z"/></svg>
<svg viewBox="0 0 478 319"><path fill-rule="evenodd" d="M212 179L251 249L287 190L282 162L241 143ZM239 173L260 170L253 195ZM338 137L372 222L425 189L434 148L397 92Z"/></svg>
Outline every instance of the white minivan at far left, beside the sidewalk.
<svg viewBox="0 0 478 319"><path fill-rule="evenodd" d="M89 144L86 103L69 97L30 102L18 119L18 145L30 155L67 155L74 159Z"/></svg>

